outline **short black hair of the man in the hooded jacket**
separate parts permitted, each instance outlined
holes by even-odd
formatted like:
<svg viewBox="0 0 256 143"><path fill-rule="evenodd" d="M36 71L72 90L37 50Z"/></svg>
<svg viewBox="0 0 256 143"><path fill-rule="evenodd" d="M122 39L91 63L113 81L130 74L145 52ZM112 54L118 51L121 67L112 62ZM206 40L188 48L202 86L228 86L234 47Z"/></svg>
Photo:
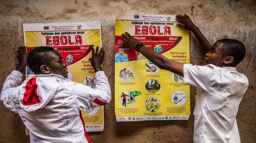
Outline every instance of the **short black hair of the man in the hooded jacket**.
<svg viewBox="0 0 256 143"><path fill-rule="evenodd" d="M41 65L49 65L50 58L53 56L51 52L54 48L49 46L40 46L31 50L27 57L27 65L36 74L41 74Z"/></svg>

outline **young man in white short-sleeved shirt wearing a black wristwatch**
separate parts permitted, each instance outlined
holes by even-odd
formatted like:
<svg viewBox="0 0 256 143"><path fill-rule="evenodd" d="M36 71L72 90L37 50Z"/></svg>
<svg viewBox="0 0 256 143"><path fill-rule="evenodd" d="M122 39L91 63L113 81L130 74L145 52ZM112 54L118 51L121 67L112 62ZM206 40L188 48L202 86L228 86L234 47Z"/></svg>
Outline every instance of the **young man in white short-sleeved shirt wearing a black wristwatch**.
<svg viewBox="0 0 256 143"><path fill-rule="evenodd" d="M196 36L205 53L204 66L169 60L127 32L122 34L124 45L135 48L159 68L184 77L185 84L197 87L194 143L240 143L236 114L248 80L235 66L244 59L244 44L221 39L211 45L187 15L176 15L176 19L184 22L178 26L191 30Z"/></svg>

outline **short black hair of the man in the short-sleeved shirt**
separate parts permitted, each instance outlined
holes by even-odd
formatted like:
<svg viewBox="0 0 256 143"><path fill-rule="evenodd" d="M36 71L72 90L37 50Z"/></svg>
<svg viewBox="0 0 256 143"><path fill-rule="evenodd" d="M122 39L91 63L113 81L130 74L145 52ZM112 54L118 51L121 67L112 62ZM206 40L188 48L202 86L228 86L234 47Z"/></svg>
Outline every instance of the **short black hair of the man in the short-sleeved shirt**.
<svg viewBox="0 0 256 143"><path fill-rule="evenodd" d="M238 65L245 57L245 46L242 42L235 39L220 39L221 42L222 56L232 56L233 66Z"/></svg>

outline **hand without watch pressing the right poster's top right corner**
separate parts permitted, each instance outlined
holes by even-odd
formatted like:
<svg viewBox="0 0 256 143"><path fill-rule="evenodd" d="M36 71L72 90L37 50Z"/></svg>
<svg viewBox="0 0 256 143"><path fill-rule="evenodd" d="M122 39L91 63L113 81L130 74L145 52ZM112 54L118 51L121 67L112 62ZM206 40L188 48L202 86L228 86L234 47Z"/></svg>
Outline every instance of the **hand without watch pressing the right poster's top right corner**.
<svg viewBox="0 0 256 143"><path fill-rule="evenodd" d="M178 26L181 26L183 28L186 28L190 31L193 31L197 28L197 26L191 21L188 15L176 15L176 20L180 22L184 22L184 24L177 24Z"/></svg>

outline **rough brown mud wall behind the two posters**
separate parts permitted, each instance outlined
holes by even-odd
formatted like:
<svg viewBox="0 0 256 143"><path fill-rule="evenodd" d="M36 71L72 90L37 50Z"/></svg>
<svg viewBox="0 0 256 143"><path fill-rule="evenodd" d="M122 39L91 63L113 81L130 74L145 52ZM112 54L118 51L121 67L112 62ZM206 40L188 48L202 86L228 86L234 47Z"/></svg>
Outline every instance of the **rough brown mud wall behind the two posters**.
<svg viewBox="0 0 256 143"><path fill-rule="evenodd" d="M190 143L193 142L196 88L191 87L191 115L188 121L116 122L114 113L114 33L116 13L176 15L186 13L214 43L234 38L246 46L245 59L236 67L249 80L236 116L242 143L256 142L256 1L255 0L0 0L0 85L15 69L16 49L24 45L23 23L101 21L103 68L112 89L112 101L105 106L105 130L87 133L93 143ZM203 52L190 33L190 63L202 65ZM0 105L0 142L29 143L19 115Z"/></svg>

